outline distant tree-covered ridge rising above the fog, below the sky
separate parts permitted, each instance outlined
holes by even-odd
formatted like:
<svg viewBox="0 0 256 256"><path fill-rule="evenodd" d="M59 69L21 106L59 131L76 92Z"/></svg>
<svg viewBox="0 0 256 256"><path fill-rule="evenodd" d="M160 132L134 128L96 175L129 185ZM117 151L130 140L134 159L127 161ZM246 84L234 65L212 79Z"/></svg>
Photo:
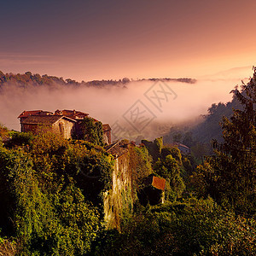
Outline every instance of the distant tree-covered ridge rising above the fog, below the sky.
<svg viewBox="0 0 256 256"><path fill-rule="evenodd" d="M119 80L93 80L88 82L77 82L73 79L63 79L58 78L55 76L49 76L47 74L40 75L38 73L32 74L31 72L26 73L3 73L0 71L0 88L3 84L16 84L20 86L26 85L53 85L53 84L60 84L60 85L74 85L74 86L96 86L96 87L103 87L108 85L125 85L131 82L143 82L143 81L165 81L165 82L181 82L181 83L188 83L188 84L195 84L196 79L137 79L137 80L130 80L127 78L119 79Z"/></svg>

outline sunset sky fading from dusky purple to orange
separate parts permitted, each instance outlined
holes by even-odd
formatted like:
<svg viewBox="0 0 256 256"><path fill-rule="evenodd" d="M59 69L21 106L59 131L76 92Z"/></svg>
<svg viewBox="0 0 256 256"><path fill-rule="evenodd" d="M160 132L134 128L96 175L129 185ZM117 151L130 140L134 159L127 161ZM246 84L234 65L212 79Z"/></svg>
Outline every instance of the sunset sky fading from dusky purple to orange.
<svg viewBox="0 0 256 256"><path fill-rule="evenodd" d="M255 8L253 0L2 1L0 70L78 81L231 70L242 79L255 64Z"/></svg>

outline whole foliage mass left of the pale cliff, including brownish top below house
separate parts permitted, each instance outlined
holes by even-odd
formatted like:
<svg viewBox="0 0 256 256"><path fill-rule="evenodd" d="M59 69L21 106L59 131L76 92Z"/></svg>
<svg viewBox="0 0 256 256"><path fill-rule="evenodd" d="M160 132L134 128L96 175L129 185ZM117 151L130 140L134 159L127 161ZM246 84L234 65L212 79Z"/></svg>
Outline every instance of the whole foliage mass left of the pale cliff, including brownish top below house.
<svg viewBox="0 0 256 256"><path fill-rule="evenodd" d="M87 163L87 171L93 166L105 182L100 168L109 171L111 158L90 143L72 144L49 133L34 137L26 151L0 148L0 227L5 235L19 239L20 255L90 251L101 221L96 208L85 201L79 183L75 185L79 171L72 166L75 156L86 158L82 163ZM75 164L85 169L81 162Z"/></svg>

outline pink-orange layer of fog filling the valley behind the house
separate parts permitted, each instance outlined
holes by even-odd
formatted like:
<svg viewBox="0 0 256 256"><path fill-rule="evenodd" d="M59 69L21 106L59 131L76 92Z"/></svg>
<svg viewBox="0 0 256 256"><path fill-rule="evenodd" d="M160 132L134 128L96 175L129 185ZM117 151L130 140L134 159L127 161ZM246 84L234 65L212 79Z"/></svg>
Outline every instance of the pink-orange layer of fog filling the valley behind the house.
<svg viewBox="0 0 256 256"><path fill-rule="evenodd" d="M115 133L113 137L141 136L152 139L169 131L172 125L197 119L201 114L207 113L207 108L212 103L229 102L232 99L230 90L236 84L241 84L241 80L201 79L195 84L161 83L131 82L121 87L104 88L75 88L57 84L50 87L21 88L9 84L0 91L0 123L9 129L20 131L17 117L24 110L54 112L56 109L76 109L89 113L102 123L112 125ZM160 92L158 86L165 88L167 93ZM155 98L150 98L153 90L159 93L161 100L158 102L161 106L157 106ZM144 117L141 116L144 122L139 123L139 120L143 121L139 116L131 117L131 111L135 113L136 110L144 114ZM134 118L137 118L137 122ZM120 131L123 132L122 135Z"/></svg>

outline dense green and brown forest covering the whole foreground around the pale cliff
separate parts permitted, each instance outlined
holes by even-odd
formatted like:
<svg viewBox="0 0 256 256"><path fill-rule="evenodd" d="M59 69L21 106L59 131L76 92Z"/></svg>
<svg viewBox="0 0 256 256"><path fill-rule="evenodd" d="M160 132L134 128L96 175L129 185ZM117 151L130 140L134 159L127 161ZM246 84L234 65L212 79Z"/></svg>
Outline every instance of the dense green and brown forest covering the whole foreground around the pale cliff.
<svg viewBox="0 0 256 256"><path fill-rule="evenodd" d="M51 80L38 77L37 84L44 79ZM107 229L104 220L114 157L102 144L101 125L90 124L94 136L85 132L80 140L0 126L0 255L255 255L256 71L233 94L231 103L209 108L202 125L215 140L201 164L161 137L122 142L133 205L121 212L119 229ZM216 140L213 124L222 115ZM171 136L192 146L197 139L191 131ZM166 180L164 203L143 200L150 175Z"/></svg>

